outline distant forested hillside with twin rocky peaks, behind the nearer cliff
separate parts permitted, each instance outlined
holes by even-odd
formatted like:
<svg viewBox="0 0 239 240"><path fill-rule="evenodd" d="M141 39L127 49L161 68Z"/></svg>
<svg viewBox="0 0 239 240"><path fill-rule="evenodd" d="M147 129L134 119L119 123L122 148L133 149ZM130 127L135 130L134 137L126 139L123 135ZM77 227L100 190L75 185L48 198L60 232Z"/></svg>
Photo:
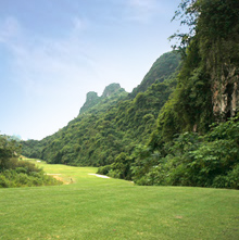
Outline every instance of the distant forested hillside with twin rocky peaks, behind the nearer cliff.
<svg viewBox="0 0 239 240"><path fill-rule="evenodd" d="M142 80L144 85L150 79L149 88L135 98L118 84L108 86L101 97L88 92L75 119L41 141L24 141L23 154L78 166L102 166L122 152L130 154L135 144L146 143L155 129L159 112L176 86L179 63L176 52L163 54Z"/></svg>

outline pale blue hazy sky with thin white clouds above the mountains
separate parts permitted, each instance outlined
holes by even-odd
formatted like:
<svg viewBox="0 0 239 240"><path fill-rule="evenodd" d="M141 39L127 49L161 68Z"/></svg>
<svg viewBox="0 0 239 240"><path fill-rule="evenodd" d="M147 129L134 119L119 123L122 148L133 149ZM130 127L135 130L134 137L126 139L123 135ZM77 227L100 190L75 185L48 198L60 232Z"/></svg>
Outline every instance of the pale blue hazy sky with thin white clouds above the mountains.
<svg viewBox="0 0 239 240"><path fill-rule="evenodd" d="M0 134L41 139L171 51L180 0L0 0Z"/></svg>

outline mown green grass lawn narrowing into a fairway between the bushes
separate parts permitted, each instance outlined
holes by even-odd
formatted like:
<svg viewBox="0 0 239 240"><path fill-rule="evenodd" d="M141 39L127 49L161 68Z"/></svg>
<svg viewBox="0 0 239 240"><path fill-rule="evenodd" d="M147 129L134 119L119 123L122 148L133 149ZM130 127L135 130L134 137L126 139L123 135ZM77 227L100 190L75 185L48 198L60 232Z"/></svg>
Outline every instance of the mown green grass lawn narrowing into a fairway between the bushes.
<svg viewBox="0 0 239 240"><path fill-rule="evenodd" d="M0 189L0 239L239 239L239 191L140 187L37 163L65 182Z"/></svg>

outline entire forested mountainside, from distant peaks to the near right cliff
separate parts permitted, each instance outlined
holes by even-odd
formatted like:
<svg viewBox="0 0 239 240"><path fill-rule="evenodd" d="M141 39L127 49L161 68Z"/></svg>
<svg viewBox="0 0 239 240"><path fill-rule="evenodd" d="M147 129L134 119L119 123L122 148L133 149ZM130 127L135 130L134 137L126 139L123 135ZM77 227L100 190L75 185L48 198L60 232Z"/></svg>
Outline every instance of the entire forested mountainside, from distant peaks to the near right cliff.
<svg viewBox="0 0 239 240"><path fill-rule="evenodd" d="M74 121L23 142L24 154L139 185L239 188L239 1L184 0L175 18L189 31L131 93L88 93Z"/></svg>

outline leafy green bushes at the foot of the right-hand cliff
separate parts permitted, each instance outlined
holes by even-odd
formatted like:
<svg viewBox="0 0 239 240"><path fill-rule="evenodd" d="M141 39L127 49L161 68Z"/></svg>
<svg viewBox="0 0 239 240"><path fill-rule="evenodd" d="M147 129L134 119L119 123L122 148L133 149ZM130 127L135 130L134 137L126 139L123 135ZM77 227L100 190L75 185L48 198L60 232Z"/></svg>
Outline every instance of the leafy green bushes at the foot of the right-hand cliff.
<svg viewBox="0 0 239 240"><path fill-rule="evenodd" d="M141 185L239 189L238 132L239 122L231 119L204 136L184 132L160 151L140 149L131 167L134 179Z"/></svg>

